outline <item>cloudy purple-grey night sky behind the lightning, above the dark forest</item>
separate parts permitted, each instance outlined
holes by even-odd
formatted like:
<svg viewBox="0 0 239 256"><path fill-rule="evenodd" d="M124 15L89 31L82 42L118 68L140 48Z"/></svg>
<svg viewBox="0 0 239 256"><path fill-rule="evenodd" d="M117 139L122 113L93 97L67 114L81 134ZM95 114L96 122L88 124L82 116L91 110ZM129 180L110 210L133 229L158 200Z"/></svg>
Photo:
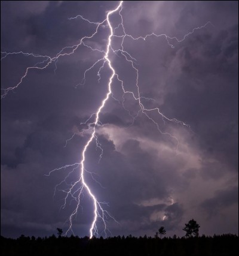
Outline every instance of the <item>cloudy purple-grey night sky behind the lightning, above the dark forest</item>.
<svg viewBox="0 0 239 256"><path fill-rule="evenodd" d="M80 17L68 18L81 14L102 22L118 3L1 1L1 52L56 56L96 29ZM183 236L182 228L192 218L200 224L200 234L238 234L238 2L126 1L121 14L125 32L134 38L155 32L182 40L192 29L211 23L181 43L169 40L174 48L164 36L125 37L124 50L139 70L144 106L159 108L190 127L167 121L157 111L147 112L148 118L139 101L124 95L121 83L113 80L113 95L96 128L102 158L93 141L85 159L85 168L97 180L86 173L88 184L118 221L107 219L108 236L154 236L161 225L167 236ZM118 13L111 16L114 28L120 22ZM117 33L122 34L121 27ZM108 37L104 23L84 43L102 51ZM121 42L112 38L112 47L119 49ZM49 236L56 228L68 229L76 201L69 198L61 208L64 189L79 178L79 168L55 195L54 187L73 167L44 174L81 161L93 128L81 123L105 98L111 70L106 63L99 80L97 64L81 82L84 71L103 55L80 46L45 70L29 70L22 84L1 100L2 236ZM125 90L136 94L131 62L112 50L109 58ZM2 59L1 89L17 85L27 67L42 61L22 54ZM73 219L75 235L88 236L92 219L93 203L84 190ZM102 228L99 222L100 236Z"/></svg>

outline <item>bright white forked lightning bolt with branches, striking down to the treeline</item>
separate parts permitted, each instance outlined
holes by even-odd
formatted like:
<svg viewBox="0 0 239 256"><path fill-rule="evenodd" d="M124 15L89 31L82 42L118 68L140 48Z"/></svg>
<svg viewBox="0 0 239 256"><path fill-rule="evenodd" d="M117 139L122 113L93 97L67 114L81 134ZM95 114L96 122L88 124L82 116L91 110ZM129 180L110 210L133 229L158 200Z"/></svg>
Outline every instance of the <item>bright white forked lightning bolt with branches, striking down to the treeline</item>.
<svg viewBox="0 0 239 256"><path fill-rule="evenodd" d="M122 107L128 112L128 114L131 116L132 118L132 122L131 125L133 125L135 119L140 115L143 114L145 115L153 124L155 124L155 126L157 127L158 131L161 132L161 134L164 135L168 135L171 138L173 138L174 140L176 140L177 142L177 147L179 146L179 140L177 139L176 136L174 136L173 134L170 134L169 132L165 132L165 131L161 131L160 129L160 125L158 124L157 121L155 121L154 118L152 118L149 113L150 112L154 112L157 113L158 115L161 116L161 118L163 119L163 122L174 122L176 124L180 124L182 126L185 126L187 128L190 128L189 125L185 124L185 122L179 121L176 118L168 118L167 116L163 115L163 113L160 111L160 109L158 107L154 107L154 108L147 108L145 107L145 105L143 104L143 100L147 100L147 101L154 101L154 99L152 98L146 98L140 95L140 88L138 85L138 80L139 80L139 70L137 70L136 65L134 64L134 62L136 62L136 59L130 55L130 53L128 53L125 49L124 49L124 40L125 38L131 38L131 40L143 40L146 41L148 37L164 37L167 41L168 46L170 46L171 48L174 47L174 45L172 43L170 43L170 41L172 40L176 40L177 43L180 43L182 41L184 41L189 35L191 35L192 33L194 33L194 31L196 31L197 29L202 29L205 28L207 25L211 24L210 22L207 22L205 25L203 26L199 26L197 28L192 29L192 31L188 32L188 34L184 35L182 37L182 39L178 39L176 37L169 37L166 34L155 34L154 32L152 32L151 34L147 34L145 36L140 36L140 37L133 37L132 35L129 35L125 32L125 28L123 25L123 17L122 17L122 5L123 5L123 1L120 1L119 4L117 5L117 7L114 10L110 10L108 11L108 13L106 14L106 19L103 20L102 22L91 22L88 19L85 19L83 16L78 15L76 17L72 17L69 18L69 20L72 19L82 19L85 22L88 22L94 26L96 26L95 31L93 32L93 34L82 37L81 40L79 40L78 44L74 44L73 46L66 46L63 47L62 50L60 50L59 53L57 53L56 56L44 56L44 55L38 55L35 53L24 53L24 52L1 52L1 61L4 60L5 58L11 56L11 55L23 55L26 57L31 57L31 58L36 58L39 59L38 62L36 62L35 65L33 65L32 67L27 67L25 73L23 74L23 76L20 78L19 83L17 83L17 85L13 86L13 87L9 87L7 89L1 89L2 91L2 95L1 95L1 99L5 98L8 94L8 92L10 91L14 91L16 90L23 82L24 78L27 76L27 74L29 73L30 70L34 70L34 69L38 69L38 70L44 70L45 68L47 68L49 65L54 64L55 65L55 69L54 72L56 73L57 71L57 61L59 61L59 58L62 58L64 56L69 56L72 55L76 49L78 49L78 47L82 46L82 47L87 47L88 49L94 51L97 51L99 53L102 53L103 56L102 58L98 59L96 62L94 62L93 65L91 65L91 67L87 68L87 70L85 70L84 72L84 77L82 79L82 81L78 84L78 85L84 85L85 80L86 80L86 75L89 71L91 71L94 67L97 66L97 64L100 64L100 68L97 71L97 76L99 77L99 80L101 79L100 77L100 72L103 70L103 68L105 68L105 65L108 65L109 70L111 70L111 75L109 76L109 80L108 80L108 91L106 92L105 98L103 98L99 108L96 110L96 113L93 113L90 118L87 119L87 121L82 122L81 124L87 125L88 128L87 129L83 129L82 132L88 132L90 133L90 138L88 138L82 153L81 153L81 161L80 162L76 162L75 164L68 164L65 165L63 167L60 168L55 168L54 170L51 170L47 176L50 176L50 174L52 174L55 171L60 171L60 170L65 170L68 168L72 168L71 171L69 171L68 175L65 177L64 180L62 180L62 182L58 183L55 186L54 189L54 195L56 194L57 189L59 191L62 191L66 194L66 197L64 199L64 203L62 205L61 208L65 208L67 201L71 198L71 200L76 202L76 207L73 210L73 212L71 213L71 215L69 216L68 222L69 222L69 228L66 231L66 234L68 234L69 231L72 231L72 221L73 219L76 217L77 213L78 213L78 209L80 206L80 198L82 195L83 191L86 191L88 196L91 198L92 202L93 202L93 221L91 222L90 225L90 230L89 230L89 234L90 234L90 238L92 238L93 236L99 236L98 233L98 228L97 228L97 221L101 220L103 222L103 227L104 230L103 232L105 233L105 236L107 236L106 231L108 231L107 227L106 227L106 219L108 218L112 218L114 219L111 214L106 211L105 209L103 209L103 205L108 204L106 202L100 202L99 200L97 200L96 195L93 194L90 186L88 185L88 183L85 180L85 173L88 172L91 174L91 177L94 179L93 177L93 173L90 171L87 171L85 169L85 160L86 160L86 154L87 154L87 149L90 146L90 144L92 143L92 141L94 140L96 142L96 148L99 148L101 150L100 153L100 159L102 158L103 155L103 149L102 149L102 145L99 143L98 137L97 137L97 127L102 126L103 124L100 122L100 113L102 112L102 109L105 107L106 102L109 100L110 97L112 97L114 100L117 100L118 103L122 104ZM111 16L115 13L118 13L118 15L120 16L121 22L118 24L117 27L113 28L112 23L111 23ZM100 49L94 49L93 47L89 46L87 43L85 43L86 40L90 40L94 37L94 35L97 34L97 32L99 31L100 26L102 26L103 28L107 27L109 28L109 36L107 38L107 44L106 44L106 49L105 50L100 50ZM117 31L120 31L121 29L121 34L117 34ZM121 38L121 46L119 47L119 49L114 49L114 47L112 46L112 38ZM125 89L124 86L124 82L123 80L121 80L121 78L119 77L119 75L117 74L114 66L112 65L112 61L111 58L109 57L110 53L115 54L116 56L123 56L123 58L125 59L125 61L129 62L131 64L132 69L134 70L134 72L136 73L136 93L133 91L128 91L127 89ZM117 98L114 97L114 94L112 93L112 82L114 79L117 79L118 82L121 85L122 88L122 92L123 92L123 96L122 96L122 101L118 100ZM78 86L76 85L76 86ZM136 115L133 115L130 110L127 109L127 107L125 107L125 95L131 95L133 97L133 99L138 103L139 105L139 111L137 112ZM94 119L94 121L92 122L91 120ZM74 132L72 137L69 138L68 140L66 140L66 144L65 146L67 146L67 143L69 140L71 140L77 133ZM176 147L176 149L177 149ZM99 159L99 160L100 160ZM76 180L75 182L69 182L70 177L72 175L73 172L77 171L78 172L78 168L80 168L79 171L79 179ZM95 180L97 182L97 180ZM59 189L60 186L62 186L62 184L66 185L66 189ZM166 218L166 216L164 216L164 219ZM115 220L115 219L114 219ZM116 221L116 220L115 220Z"/></svg>

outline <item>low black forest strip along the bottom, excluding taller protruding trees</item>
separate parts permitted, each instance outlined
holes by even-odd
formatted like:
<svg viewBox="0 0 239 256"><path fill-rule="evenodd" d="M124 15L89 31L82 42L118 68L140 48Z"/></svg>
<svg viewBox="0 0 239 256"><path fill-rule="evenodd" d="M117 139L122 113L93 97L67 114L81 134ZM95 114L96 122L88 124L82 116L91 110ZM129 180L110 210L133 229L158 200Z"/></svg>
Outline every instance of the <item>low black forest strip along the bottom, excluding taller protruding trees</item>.
<svg viewBox="0 0 239 256"><path fill-rule="evenodd" d="M238 255L238 236L132 237L117 236L89 239L78 236L35 238L1 236L1 255Z"/></svg>

